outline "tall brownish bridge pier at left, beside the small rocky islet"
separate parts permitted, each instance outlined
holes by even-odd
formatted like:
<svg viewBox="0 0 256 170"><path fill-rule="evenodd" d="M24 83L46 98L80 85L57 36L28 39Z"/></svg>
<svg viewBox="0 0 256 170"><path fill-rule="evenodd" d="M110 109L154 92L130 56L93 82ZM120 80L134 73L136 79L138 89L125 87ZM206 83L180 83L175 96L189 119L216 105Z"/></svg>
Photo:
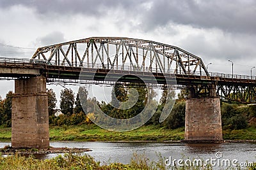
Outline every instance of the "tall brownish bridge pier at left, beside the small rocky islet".
<svg viewBox="0 0 256 170"><path fill-rule="evenodd" d="M15 80L12 147L49 147L49 114L44 76Z"/></svg>

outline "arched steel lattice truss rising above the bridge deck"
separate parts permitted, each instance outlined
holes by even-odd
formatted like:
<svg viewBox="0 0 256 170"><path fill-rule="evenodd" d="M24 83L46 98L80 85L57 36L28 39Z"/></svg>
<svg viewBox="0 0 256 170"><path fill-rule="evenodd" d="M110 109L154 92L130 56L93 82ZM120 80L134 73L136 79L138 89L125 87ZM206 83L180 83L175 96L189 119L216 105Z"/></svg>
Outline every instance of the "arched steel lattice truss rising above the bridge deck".
<svg viewBox="0 0 256 170"><path fill-rule="evenodd" d="M132 38L86 38L40 47L32 59L47 64L209 75L200 57L177 46Z"/></svg>

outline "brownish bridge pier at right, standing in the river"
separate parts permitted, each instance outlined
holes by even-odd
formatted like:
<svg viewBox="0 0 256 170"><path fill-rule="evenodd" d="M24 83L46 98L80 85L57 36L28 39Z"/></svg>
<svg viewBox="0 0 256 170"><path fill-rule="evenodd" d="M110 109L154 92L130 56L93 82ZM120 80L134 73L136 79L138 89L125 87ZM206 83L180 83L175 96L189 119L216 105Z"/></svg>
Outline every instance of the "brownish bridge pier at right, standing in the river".
<svg viewBox="0 0 256 170"><path fill-rule="evenodd" d="M220 98L215 87L211 87L209 97L196 97L193 92L186 99L184 142L222 142Z"/></svg>

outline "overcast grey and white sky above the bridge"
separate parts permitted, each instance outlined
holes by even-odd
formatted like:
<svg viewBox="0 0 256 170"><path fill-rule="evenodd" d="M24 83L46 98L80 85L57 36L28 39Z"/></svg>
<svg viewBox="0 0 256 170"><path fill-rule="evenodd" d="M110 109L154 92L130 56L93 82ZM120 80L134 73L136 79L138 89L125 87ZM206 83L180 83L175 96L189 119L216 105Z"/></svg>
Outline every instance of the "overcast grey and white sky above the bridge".
<svg viewBox="0 0 256 170"><path fill-rule="evenodd" d="M231 73L232 60L234 74L249 75L255 18L253 0L0 0L0 56L29 59L39 46L122 36L179 46L212 62L211 72ZM0 83L0 96L13 90L13 81Z"/></svg>

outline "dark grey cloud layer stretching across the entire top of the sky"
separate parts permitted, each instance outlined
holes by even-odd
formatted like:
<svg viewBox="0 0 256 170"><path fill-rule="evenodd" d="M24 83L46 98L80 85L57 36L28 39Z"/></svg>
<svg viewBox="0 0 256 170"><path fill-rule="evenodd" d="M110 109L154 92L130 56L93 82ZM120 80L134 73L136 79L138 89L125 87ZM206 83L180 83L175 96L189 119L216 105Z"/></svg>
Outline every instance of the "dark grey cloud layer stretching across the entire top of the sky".
<svg viewBox="0 0 256 170"><path fill-rule="evenodd" d="M143 8L145 3L152 3L151 8ZM170 22L192 25L199 28L218 28L228 32L256 33L256 1L202 1L202 0L63 0L63 1L19 1L2 0L0 8L15 5L28 6L39 14L57 13L60 15L83 14L102 17L116 9L122 9L129 22L140 18L141 28L150 31ZM48 15L47 15L48 16Z"/></svg>

